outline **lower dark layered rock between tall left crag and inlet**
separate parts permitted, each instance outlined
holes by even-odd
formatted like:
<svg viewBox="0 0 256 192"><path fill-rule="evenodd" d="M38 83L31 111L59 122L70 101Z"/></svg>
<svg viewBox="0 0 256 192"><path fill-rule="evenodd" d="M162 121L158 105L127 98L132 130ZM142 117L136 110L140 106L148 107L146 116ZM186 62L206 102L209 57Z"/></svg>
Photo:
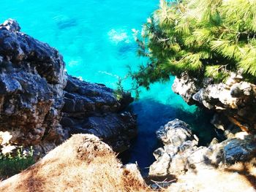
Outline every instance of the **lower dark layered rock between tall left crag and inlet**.
<svg viewBox="0 0 256 192"><path fill-rule="evenodd" d="M69 134L94 134L118 152L127 150L137 129L135 115L121 112L132 97L124 93L123 98L127 101L119 101L105 85L68 76L61 125Z"/></svg>

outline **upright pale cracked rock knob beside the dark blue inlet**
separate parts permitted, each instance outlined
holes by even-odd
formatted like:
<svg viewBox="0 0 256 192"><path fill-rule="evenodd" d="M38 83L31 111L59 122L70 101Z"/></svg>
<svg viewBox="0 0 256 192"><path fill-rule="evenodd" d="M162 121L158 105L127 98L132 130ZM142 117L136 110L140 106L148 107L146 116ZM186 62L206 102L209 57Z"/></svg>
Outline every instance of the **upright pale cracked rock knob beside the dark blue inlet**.
<svg viewBox="0 0 256 192"><path fill-rule="evenodd" d="M157 137L165 146L154 152L157 161L150 166L149 175L184 172L187 169L185 161L197 146L189 125L178 119L172 120L159 128Z"/></svg>

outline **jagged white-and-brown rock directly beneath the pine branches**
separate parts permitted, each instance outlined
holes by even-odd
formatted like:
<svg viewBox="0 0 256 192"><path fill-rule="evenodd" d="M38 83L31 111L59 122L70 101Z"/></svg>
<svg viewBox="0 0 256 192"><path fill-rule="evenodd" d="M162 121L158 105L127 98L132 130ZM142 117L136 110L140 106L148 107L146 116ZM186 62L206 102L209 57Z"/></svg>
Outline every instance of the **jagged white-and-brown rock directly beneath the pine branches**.
<svg viewBox="0 0 256 192"><path fill-rule="evenodd" d="M215 110L213 124L223 131L236 126L252 134L256 131L256 85L244 81L240 74L231 73L225 83L218 84L209 78L198 82L184 74L176 77L173 91L189 104Z"/></svg>

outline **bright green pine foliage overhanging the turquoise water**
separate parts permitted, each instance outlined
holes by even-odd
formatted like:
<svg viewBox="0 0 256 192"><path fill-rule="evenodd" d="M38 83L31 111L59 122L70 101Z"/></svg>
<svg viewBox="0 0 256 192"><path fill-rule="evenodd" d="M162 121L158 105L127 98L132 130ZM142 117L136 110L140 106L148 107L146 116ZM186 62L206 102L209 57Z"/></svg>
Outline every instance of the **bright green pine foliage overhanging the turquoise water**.
<svg viewBox="0 0 256 192"><path fill-rule="evenodd" d="M187 72L224 80L256 77L256 0L161 0L136 41L148 64L132 78L148 88Z"/></svg>

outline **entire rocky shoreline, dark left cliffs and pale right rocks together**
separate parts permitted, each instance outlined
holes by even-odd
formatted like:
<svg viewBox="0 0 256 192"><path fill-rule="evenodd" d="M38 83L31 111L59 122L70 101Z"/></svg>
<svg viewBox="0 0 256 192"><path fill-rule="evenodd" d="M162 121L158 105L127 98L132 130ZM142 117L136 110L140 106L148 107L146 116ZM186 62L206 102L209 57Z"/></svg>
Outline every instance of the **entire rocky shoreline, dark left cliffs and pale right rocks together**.
<svg viewBox="0 0 256 192"><path fill-rule="evenodd" d="M126 111L133 101L129 93L117 96L105 85L68 75L59 52L20 32L15 20L0 25L0 66L2 151L33 146L45 155L72 134L94 134L120 153L136 136L136 115ZM188 104L213 110L211 123L226 139L199 146L187 123L170 121L157 131L164 146L154 151L150 176L222 169L255 158L256 85L240 74L231 74L225 83L198 82L183 74L176 77L173 91Z"/></svg>

